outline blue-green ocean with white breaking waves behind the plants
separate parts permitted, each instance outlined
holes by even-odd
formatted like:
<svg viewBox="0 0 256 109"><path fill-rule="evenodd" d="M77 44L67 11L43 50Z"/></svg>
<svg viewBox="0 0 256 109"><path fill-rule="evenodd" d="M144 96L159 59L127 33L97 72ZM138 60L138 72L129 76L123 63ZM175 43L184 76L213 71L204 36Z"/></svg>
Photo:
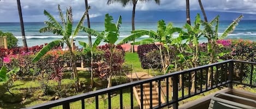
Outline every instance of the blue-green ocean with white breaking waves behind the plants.
<svg viewBox="0 0 256 109"><path fill-rule="evenodd" d="M219 31L221 35L223 31L229 26L232 21L220 21ZM183 27L184 22L172 22L175 27ZM74 24L76 25L76 24ZM84 25L87 25L86 23ZM62 36L57 36L52 33L39 33L39 29L43 28L45 24L43 22L25 22L25 34L27 44L29 47L39 44L49 43L53 40L61 39ZM75 27L75 26L74 26ZM91 28L97 31L104 30L104 22L91 22ZM132 25L129 22L123 22L120 29L120 37L117 42L120 42L124 37L130 35ZM135 22L135 29L147 29L157 30L157 22ZM4 32L10 32L19 40L18 46L22 46L20 23L0 23L0 30ZM174 35L174 36L177 36ZM147 36L143 36L138 40L145 39ZM94 41L96 37L92 37ZM242 20L239 25L236 26L235 31L231 33L227 39L244 39L256 41L256 21ZM80 31L79 35L75 37L76 46L79 46L78 41L88 42L87 34L84 31ZM137 40L137 41L138 41ZM207 42L204 37L201 37L200 42ZM104 44L104 43L101 43Z"/></svg>

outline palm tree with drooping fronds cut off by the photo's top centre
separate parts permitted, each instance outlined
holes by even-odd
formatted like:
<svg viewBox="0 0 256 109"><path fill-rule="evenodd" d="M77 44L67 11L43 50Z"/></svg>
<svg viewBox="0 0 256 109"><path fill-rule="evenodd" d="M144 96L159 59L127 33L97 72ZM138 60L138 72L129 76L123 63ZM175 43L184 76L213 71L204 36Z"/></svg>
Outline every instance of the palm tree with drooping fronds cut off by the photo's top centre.
<svg viewBox="0 0 256 109"><path fill-rule="evenodd" d="M134 25L134 18L135 18L135 9L136 9L136 4L138 1L142 2L149 2L152 0L108 0L107 4L112 4L115 2L120 2L123 4L123 7L126 7L127 4L133 3L133 13L132 13L132 30L135 30L135 25ZM154 0L157 4L160 4L160 0ZM133 41L134 42L134 41ZM132 45L132 52L134 52L134 46Z"/></svg>

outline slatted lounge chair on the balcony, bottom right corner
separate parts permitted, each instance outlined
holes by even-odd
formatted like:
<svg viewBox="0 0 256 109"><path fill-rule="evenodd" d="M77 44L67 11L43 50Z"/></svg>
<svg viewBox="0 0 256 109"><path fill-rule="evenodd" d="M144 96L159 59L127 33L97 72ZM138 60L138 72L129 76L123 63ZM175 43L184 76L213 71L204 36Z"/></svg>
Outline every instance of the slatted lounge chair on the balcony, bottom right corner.
<svg viewBox="0 0 256 109"><path fill-rule="evenodd" d="M243 98L243 97L239 97L239 96L231 95L231 94L227 94L227 93L217 93L212 97L210 105L209 105L209 109L234 109L234 108L256 109L256 107L253 107L253 106L249 106L246 104L241 104L239 102L234 102L234 101L219 98L220 97L219 95L221 95L222 97L224 96L224 97L239 99L239 100L243 100L246 102L252 102L252 103L256 104L256 101L252 100L252 99Z"/></svg>

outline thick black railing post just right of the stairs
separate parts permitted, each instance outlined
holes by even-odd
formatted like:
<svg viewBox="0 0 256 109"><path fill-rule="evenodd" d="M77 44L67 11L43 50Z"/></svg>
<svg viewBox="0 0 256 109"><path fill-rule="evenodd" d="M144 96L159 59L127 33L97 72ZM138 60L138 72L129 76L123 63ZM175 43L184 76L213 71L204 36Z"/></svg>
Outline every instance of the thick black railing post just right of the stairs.
<svg viewBox="0 0 256 109"><path fill-rule="evenodd" d="M176 101L173 104L174 109L178 109L178 75L173 76L173 95L172 95L172 100Z"/></svg>

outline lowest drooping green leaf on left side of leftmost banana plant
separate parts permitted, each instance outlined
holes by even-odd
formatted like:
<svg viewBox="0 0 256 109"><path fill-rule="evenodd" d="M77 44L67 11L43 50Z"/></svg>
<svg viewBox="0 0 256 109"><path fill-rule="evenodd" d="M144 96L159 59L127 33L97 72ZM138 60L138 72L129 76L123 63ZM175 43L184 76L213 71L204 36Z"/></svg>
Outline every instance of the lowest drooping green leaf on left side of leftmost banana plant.
<svg viewBox="0 0 256 109"><path fill-rule="evenodd" d="M56 47L59 45L59 43L61 43L61 40L55 40L50 42L49 44L47 44L46 46L44 46L43 49L40 50L40 52L37 53L37 55L35 55L34 59L32 60L32 62L36 62L38 60L41 59L41 57L43 57L47 52L49 52L53 47Z"/></svg>

